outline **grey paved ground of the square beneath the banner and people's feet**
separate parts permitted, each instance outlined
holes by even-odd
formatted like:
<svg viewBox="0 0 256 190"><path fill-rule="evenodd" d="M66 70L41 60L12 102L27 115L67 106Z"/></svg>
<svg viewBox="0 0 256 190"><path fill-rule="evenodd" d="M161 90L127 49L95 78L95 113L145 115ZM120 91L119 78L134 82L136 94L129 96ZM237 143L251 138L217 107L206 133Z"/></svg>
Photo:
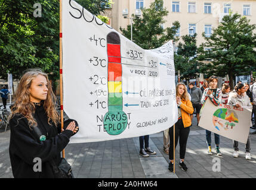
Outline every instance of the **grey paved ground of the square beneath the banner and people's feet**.
<svg viewBox="0 0 256 190"><path fill-rule="evenodd" d="M0 178L13 178L8 153L9 137L9 129L7 132L0 129ZM239 143L239 157L234 158L232 140L224 137L220 139L223 156L209 156L206 154L205 129L196 126L194 117L185 158L188 170L183 172L178 167L180 147L177 145L175 174L168 172L169 159L163 151L163 132L150 135L149 146L156 154L149 157L138 154L138 137L68 144L65 153L75 178L256 178L256 134L250 134L250 137L251 160L245 160L242 143ZM220 172L212 170L214 159L220 161Z"/></svg>

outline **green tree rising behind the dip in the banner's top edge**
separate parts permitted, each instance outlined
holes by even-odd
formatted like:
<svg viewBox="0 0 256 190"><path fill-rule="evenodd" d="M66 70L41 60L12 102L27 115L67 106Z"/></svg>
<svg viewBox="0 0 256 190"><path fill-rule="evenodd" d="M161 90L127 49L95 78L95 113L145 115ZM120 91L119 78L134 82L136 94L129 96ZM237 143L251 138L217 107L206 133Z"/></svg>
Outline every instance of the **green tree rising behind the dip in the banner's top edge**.
<svg viewBox="0 0 256 190"><path fill-rule="evenodd" d="M168 15L168 11L163 6L163 0L155 0L150 4L150 8L141 9L142 17L135 17L132 14L132 17L134 17L132 42L143 49L154 49L174 39L174 35L180 24L178 21L175 21L174 26L163 29L162 24L165 23L164 17ZM125 37L131 39L131 25L128 25L127 29L120 28L120 30Z"/></svg>

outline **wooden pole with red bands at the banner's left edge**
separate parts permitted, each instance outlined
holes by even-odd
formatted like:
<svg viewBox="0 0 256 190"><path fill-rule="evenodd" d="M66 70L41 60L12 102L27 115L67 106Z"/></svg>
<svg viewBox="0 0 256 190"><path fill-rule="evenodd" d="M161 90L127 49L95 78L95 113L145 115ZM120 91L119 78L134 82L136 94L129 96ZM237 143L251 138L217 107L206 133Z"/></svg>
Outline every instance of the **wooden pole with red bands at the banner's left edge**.
<svg viewBox="0 0 256 190"><path fill-rule="evenodd" d="M61 131L63 129L63 81L62 81L62 0L60 0L60 119ZM62 157L65 157L65 150L62 150Z"/></svg>

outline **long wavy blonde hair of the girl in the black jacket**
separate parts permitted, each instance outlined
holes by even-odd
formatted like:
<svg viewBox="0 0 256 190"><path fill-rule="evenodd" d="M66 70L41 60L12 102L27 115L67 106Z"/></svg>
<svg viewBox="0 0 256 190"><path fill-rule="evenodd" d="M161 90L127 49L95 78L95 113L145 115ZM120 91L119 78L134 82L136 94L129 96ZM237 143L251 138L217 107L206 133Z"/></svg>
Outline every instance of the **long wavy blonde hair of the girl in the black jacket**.
<svg viewBox="0 0 256 190"><path fill-rule="evenodd" d="M29 122L30 127L32 125L37 125L35 119L33 119L35 105L29 101L29 88L32 84L32 80L38 75L44 76L48 83L47 99L43 101L44 109L48 116L48 124L50 124L51 121L57 126L58 122L60 122L60 116L55 109L55 102L57 99L53 93L53 89L51 88L51 82L48 80L48 75L39 69L28 71L23 75L23 77L21 77L16 93L14 94L15 103L11 107L10 118L13 118L16 114L22 114Z"/></svg>

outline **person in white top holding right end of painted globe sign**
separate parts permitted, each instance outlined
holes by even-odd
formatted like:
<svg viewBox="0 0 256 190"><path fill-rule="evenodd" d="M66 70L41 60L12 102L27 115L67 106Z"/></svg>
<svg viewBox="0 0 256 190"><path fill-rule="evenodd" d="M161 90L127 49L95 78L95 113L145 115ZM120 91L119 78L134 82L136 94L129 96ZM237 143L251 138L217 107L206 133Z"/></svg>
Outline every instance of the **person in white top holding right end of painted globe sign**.
<svg viewBox="0 0 256 190"><path fill-rule="evenodd" d="M245 93L245 85L242 83L238 83L235 86L235 91L236 91L236 93L233 93L229 97L228 105L252 110L252 105L251 105L250 99ZM249 126L248 126L248 128L249 128ZM237 158L239 156L238 141L233 140L233 147L235 150L233 153L233 157ZM251 160L250 150L251 150L251 140L248 135L248 140L247 140L247 143L245 144L245 159L246 160Z"/></svg>

